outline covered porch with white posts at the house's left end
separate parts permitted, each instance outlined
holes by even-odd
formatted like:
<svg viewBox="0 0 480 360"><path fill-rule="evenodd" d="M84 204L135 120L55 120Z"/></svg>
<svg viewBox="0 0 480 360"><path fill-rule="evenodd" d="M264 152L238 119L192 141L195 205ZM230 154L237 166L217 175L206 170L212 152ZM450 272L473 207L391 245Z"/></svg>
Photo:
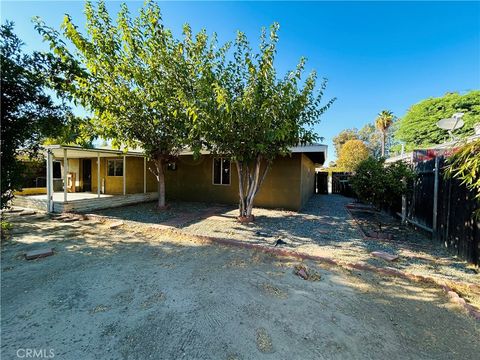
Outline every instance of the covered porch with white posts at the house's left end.
<svg viewBox="0 0 480 360"><path fill-rule="evenodd" d="M14 205L47 212L88 212L158 197L141 151L50 145L46 188L16 196Z"/></svg>

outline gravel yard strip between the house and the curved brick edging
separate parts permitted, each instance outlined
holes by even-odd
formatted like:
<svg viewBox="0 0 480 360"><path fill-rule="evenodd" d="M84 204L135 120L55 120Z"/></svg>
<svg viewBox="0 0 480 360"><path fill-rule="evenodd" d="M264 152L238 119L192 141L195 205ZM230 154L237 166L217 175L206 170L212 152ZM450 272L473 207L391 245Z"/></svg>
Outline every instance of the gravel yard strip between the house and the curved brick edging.
<svg viewBox="0 0 480 360"><path fill-rule="evenodd" d="M394 234L394 241L364 239L357 223L345 209L351 201L341 195L316 195L298 213L257 208L254 209L255 223L247 225L238 223L235 207L203 203L172 203L171 209L165 213L158 213L154 203L99 213L138 224L162 223L192 234L265 246L272 246L281 238L287 242L285 247L313 255L379 267L390 266L418 275L480 285L478 268L457 258L422 232L401 226L392 217L383 215L382 222L390 224L387 230ZM175 218L178 221L174 221ZM371 256L372 251L385 251L400 258L387 262ZM479 294L463 295L480 307Z"/></svg>

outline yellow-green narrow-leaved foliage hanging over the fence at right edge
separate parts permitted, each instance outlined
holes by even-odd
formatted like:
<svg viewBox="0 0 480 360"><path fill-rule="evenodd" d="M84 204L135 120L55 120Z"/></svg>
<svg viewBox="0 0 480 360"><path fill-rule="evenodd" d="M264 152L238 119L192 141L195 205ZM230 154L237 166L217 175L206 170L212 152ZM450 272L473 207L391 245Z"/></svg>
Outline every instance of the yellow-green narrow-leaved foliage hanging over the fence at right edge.
<svg viewBox="0 0 480 360"><path fill-rule="evenodd" d="M480 201L480 140L464 144L447 161L445 175L459 179ZM480 220L480 209L475 216Z"/></svg>

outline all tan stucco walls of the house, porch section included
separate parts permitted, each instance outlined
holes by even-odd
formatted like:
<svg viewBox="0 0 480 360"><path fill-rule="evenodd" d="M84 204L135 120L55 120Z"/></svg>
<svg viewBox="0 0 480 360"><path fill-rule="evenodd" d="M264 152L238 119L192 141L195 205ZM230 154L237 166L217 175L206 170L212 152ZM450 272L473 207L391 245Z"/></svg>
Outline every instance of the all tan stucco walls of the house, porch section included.
<svg viewBox="0 0 480 360"><path fill-rule="evenodd" d="M97 158L84 158L92 162L91 191L97 192ZM76 177L76 191L83 189L83 160L69 159L69 172ZM100 158L100 186L105 194L123 194L123 176L108 176L107 161L114 158ZM116 159L122 159L118 157ZM147 192L157 191L157 181L147 162ZM62 168L63 171L63 168ZM143 193L144 160L142 157L127 157L126 193ZM301 209L314 193L315 165L304 154L278 158L271 166L265 181L255 198L255 206ZM213 184L213 156L182 155L176 161L176 170L165 172L166 197L168 200L200 201L209 203L237 204L238 176L234 163L230 168L230 184Z"/></svg>

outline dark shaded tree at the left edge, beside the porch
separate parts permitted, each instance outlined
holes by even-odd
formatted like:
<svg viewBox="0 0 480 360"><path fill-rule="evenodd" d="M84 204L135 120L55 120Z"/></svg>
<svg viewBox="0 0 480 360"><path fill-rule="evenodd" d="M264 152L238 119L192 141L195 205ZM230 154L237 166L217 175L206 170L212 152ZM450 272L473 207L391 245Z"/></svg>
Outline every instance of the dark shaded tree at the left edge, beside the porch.
<svg viewBox="0 0 480 360"><path fill-rule="evenodd" d="M74 119L69 107L56 104L47 93L58 63L48 53L23 53L23 42L13 28L11 22L0 26L1 208L22 187L20 156L35 157L49 137L76 141L69 132L69 119Z"/></svg>

